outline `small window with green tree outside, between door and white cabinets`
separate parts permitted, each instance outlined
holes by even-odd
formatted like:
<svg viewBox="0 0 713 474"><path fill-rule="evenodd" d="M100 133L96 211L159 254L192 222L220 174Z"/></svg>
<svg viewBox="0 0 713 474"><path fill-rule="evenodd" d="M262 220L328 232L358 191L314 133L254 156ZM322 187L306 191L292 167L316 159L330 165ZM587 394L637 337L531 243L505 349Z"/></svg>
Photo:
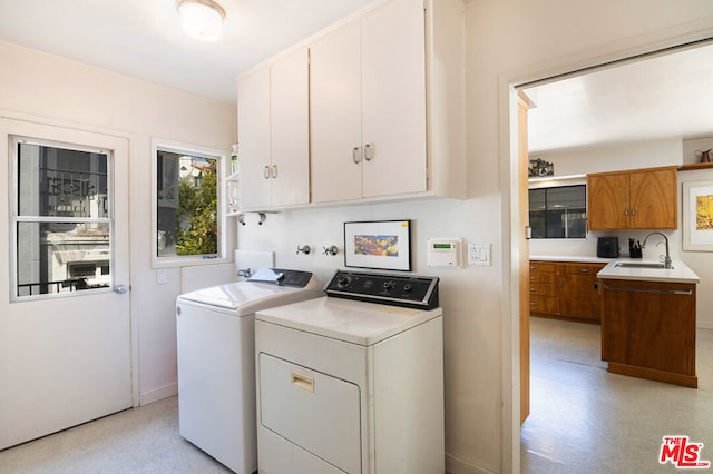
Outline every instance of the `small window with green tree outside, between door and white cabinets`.
<svg viewBox="0 0 713 474"><path fill-rule="evenodd" d="M224 156L156 146L155 263L223 255L219 170Z"/></svg>

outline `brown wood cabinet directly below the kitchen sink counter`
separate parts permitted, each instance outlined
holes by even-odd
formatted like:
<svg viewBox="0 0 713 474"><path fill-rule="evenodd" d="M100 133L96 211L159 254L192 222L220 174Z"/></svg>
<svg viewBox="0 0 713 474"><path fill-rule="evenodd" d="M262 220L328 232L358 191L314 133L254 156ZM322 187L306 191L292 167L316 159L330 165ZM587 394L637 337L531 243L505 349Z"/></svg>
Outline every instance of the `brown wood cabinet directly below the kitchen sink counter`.
<svg viewBox="0 0 713 474"><path fill-rule="evenodd" d="M602 359L608 371L697 387L695 285L603 279Z"/></svg>

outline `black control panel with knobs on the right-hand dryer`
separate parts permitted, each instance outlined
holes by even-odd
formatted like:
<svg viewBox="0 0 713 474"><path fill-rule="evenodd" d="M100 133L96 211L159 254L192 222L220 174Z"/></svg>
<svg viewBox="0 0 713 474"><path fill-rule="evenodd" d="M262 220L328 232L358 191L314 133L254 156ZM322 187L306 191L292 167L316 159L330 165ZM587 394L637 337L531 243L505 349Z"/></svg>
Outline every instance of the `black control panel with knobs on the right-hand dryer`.
<svg viewBox="0 0 713 474"><path fill-rule="evenodd" d="M328 296L431 309L438 306L438 277L338 270Z"/></svg>

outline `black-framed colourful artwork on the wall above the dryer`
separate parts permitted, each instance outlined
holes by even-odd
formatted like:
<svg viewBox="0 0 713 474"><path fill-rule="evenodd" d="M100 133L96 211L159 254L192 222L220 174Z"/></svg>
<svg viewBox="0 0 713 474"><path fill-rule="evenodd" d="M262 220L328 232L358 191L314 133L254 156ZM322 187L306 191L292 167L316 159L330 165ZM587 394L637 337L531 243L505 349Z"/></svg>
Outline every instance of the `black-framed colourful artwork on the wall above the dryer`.
<svg viewBox="0 0 713 474"><path fill-rule="evenodd" d="M411 270L411 221L344 223L344 265Z"/></svg>

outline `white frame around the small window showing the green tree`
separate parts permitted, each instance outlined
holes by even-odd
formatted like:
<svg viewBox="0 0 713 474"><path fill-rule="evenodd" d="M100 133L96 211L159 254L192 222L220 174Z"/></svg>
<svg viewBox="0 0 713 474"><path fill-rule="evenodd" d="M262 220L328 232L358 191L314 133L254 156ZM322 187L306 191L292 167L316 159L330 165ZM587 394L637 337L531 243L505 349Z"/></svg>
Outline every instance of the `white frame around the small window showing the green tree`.
<svg viewBox="0 0 713 474"><path fill-rule="evenodd" d="M218 251L215 257L206 255L187 255L187 256L158 256L158 151L168 151L182 155L195 155L209 159L217 160L217 236L218 236ZM152 139L152 226L150 226L150 243L152 243L152 268L177 268L177 267L194 267L202 265L216 265L229 263L231 259L227 255L227 233L225 218L225 176L226 176L226 162L229 156L226 150L203 147L198 145L182 144L174 140L153 138Z"/></svg>

